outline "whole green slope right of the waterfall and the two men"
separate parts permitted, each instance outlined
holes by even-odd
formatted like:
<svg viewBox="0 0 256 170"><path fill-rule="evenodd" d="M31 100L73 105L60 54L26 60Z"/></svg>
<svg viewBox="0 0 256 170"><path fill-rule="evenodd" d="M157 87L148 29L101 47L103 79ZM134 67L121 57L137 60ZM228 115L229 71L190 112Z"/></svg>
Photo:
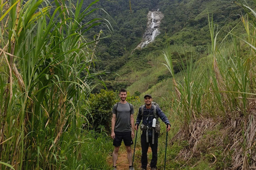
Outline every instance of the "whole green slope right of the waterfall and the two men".
<svg viewBox="0 0 256 170"><path fill-rule="evenodd" d="M165 34L116 71L116 87L152 94L172 120L167 169L255 167L255 4L242 3L159 1Z"/></svg>

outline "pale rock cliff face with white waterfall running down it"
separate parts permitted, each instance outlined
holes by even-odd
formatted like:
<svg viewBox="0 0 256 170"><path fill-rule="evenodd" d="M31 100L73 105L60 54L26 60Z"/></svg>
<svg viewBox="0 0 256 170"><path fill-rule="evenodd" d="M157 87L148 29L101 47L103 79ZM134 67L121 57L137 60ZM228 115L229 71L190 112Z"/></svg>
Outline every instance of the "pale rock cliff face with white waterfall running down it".
<svg viewBox="0 0 256 170"><path fill-rule="evenodd" d="M160 11L149 11L147 17L147 29L142 37L141 43L136 47L136 49L146 47L149 43L154 41L155 37L160 33L159 27L161 20L164 18L164 14Z"/></svg>

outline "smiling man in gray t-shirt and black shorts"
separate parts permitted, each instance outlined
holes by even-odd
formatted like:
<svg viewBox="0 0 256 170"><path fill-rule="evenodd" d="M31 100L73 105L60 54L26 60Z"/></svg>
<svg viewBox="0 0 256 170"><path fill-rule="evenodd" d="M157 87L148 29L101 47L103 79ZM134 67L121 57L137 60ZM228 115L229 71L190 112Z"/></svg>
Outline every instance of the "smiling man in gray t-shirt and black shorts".
<svg viewBox="0 0 256 170"><path fill-rule="evenodd" d="M113 169L116 170L116 160L122 140L127 151L129 162L129 170L134 170L132 167L132 139L134 138L134 118L133 106L126 101L127 91L121 89L119 91L120 101L113 107L113 117L111 120L111 138L113 139Z"/></svg>

